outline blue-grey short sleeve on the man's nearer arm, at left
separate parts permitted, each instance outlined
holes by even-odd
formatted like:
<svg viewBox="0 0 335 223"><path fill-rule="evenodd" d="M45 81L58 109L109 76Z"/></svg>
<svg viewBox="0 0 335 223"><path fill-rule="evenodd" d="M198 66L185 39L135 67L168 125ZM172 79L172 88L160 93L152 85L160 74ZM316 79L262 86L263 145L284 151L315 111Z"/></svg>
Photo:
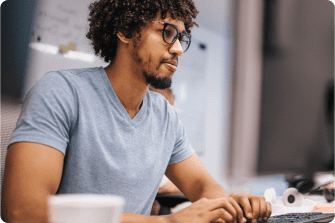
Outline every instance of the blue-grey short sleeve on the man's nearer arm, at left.
<svg viewBox="0 0 335 223"><path fill-rule="evenodd" d="M27 94L9 145L34 142L63 154L76 121L74 85L58 72L47 73Z"/></svg>

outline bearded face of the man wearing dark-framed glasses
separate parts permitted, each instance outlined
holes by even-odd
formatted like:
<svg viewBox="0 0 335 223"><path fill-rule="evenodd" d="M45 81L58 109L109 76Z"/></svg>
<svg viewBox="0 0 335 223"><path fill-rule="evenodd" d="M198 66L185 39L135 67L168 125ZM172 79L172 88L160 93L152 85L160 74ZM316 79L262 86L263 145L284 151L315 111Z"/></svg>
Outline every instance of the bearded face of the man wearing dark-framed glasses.
<svg viewBox="0 0 335 223"><path fill-rule="evenodd" d="M185 31L184 22L173 20L168 13L164 20L160 13L153 21L167 22L175 25L180 33ZM140 69L147 84L157 89L171 87L172 76L177 70L178 57L183 54L179 40L168 44L163 40L164 25L149 22L141 30L141 38L133 38L133 59Z"/></svg>

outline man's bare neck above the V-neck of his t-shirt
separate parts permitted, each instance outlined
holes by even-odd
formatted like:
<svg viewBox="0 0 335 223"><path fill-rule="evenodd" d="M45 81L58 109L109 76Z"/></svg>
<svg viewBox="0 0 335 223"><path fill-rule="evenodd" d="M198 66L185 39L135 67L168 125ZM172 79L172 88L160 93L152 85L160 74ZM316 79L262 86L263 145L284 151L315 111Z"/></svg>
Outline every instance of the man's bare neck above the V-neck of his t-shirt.
<svg viewBox="0 0 335 223"><path fill-rule="evenodd" d="M141 79L142 76L136 76L130 67L115 61L105 71L116 95L132 119L140 110L148 86Z"/></svg>

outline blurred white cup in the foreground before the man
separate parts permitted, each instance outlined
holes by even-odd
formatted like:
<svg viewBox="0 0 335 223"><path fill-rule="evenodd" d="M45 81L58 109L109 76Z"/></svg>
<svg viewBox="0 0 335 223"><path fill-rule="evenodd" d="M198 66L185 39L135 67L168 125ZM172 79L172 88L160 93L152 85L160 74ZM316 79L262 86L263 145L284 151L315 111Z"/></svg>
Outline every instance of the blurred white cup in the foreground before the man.
<svg viewBox="0 0 335 223"><path fill-rule="evenodd" d="M124 205L124 199L115 195L52 195L48 199L49 222L119 223Z"/></svg>

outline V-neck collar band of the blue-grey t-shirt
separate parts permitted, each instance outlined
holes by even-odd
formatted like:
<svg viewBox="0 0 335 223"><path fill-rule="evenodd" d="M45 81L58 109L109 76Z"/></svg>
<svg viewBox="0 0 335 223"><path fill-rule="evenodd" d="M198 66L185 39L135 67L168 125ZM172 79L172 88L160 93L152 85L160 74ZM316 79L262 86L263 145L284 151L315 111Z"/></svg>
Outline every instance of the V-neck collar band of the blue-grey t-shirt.
<svg viewBox="0 0 335 223"><path fill-rule="evenodd" d="M142 101L142 107L137 112L135 117L133 119L130 118L128 112L124 108L123 104L121 103L119 97L116 95L114 88L112 84L110 83L110 80L108 79L107 73L103 67L100 67L101 70L101 77L105 83L106 87L106 93L108 97L111 99L111 103L114 105L114 107L117 109L120 115L123 116L124 120L131 126L137 127L140 125L145 118L146 111L147 111L147 96L148 92L145 94L145 97Z"/></svg>

